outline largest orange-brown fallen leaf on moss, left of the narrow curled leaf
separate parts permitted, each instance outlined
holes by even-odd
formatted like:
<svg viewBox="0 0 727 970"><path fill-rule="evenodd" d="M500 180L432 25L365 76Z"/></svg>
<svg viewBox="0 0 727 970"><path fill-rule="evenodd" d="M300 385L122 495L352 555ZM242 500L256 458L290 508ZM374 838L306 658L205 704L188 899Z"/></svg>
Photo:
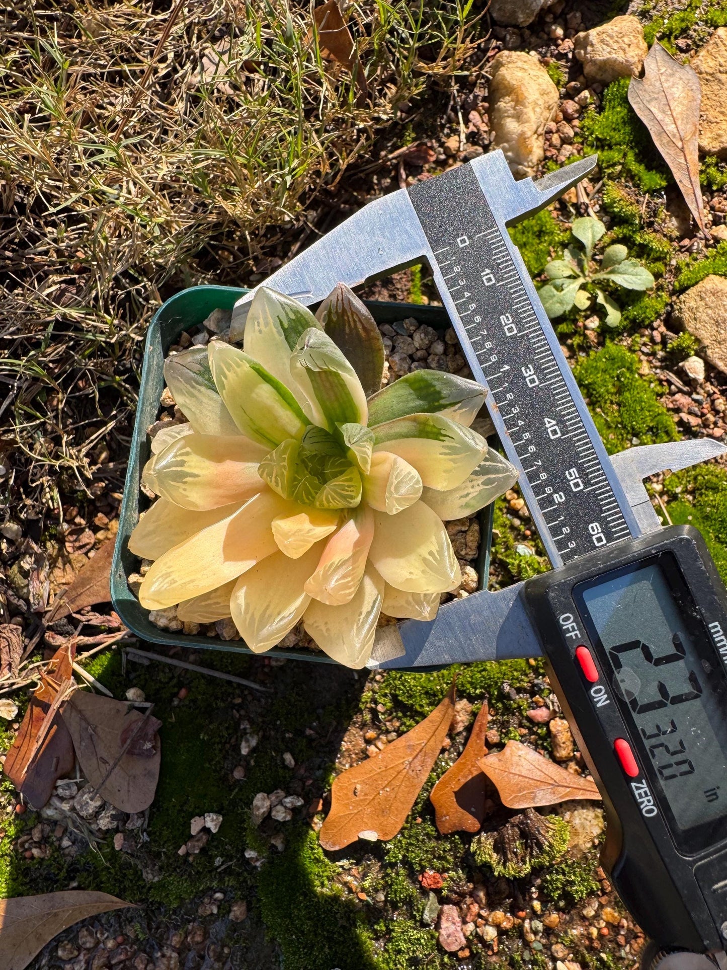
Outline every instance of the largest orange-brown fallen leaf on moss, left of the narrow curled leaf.
<svg viewBox="0 0 727 970"><path fill-rule="evenodd" d="M342 849L361 837L386 842L404 824L441 751L455 713L455 688L417 727L380 755L349 768L333 782L331 811L320 832L324 849Z"/></svg>

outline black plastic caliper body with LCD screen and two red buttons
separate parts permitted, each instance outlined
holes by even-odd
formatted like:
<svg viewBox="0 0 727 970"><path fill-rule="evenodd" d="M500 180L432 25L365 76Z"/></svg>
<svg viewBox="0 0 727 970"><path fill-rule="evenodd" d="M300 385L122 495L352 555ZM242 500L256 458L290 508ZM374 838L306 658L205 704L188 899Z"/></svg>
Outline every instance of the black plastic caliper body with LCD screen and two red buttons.
<svg viewBox="0 0 727 970"><path fill-rule="evenodd" d="M524 597L606 806L602 863L663 946L727 931L727 596L673 526L531 579Z"/></svg>

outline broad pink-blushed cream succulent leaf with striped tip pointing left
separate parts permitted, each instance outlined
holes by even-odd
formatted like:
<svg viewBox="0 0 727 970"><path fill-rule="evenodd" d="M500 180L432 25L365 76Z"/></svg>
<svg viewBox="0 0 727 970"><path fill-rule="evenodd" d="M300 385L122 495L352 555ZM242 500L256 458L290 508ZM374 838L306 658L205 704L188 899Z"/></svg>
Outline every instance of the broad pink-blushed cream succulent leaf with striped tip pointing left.
<svg viewBox="0 0 727 970"><path fill-rule="evenodd" d="M185 435L154 455L143 481L157 495L195 511L245 501L262 490L266 449L242 435Z"/></svg>

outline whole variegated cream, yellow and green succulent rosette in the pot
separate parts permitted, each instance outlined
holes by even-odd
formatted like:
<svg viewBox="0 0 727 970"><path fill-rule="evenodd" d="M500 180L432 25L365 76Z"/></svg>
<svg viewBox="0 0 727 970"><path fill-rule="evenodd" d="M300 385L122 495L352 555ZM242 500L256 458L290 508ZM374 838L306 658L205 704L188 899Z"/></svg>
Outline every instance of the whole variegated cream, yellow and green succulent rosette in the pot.
<svg viewBox="0 0 727 970"><path fill-rule="evenodd" d="M516 473L470 428L479 384L423 370L381 390L383 367L378 328L343 286L316 316L261 288L243 349L213 340L170 356L188 423L152 439L143 471L159 498L129 541L154 561L142 605L232 616L256 653L302 618L352 667L382 612L432 619L460 582L443 520L472 515Z"/></svg>

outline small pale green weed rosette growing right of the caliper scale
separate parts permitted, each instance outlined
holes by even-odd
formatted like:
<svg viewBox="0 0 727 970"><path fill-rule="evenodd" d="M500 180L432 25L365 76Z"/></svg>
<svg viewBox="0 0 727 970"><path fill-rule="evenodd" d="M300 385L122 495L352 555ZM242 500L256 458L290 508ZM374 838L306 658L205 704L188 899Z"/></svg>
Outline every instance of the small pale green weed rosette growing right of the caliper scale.
<svg viewBox="0 0 727 970"><path fill-rule="evenodd" d="M599 283L627 290L648 290L654 285L653 276L637 260L627 259L628 249L620 243L608 246L600 264L595 263L593 249L605 232L606 226L600 219L576 219L571 229L573 242L565 247L563 259L547 264L545 274L550 282L541 288L539 296L552 320L574 306L588 309L595 297L596 303L606 310L605 323L616 327L621 311Z"/></svg>

